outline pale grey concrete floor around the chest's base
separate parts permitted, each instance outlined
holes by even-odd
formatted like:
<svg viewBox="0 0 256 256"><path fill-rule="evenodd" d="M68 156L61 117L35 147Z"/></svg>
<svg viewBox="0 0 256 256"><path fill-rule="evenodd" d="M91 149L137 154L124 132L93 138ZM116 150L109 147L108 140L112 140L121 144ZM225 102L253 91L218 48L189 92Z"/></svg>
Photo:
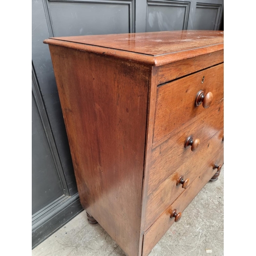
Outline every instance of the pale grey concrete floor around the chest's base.
<svg viewBox="0 0 256 256"><path fill-rule="evenodd" d="M221 256L223 252L223 171L208 182L165 233L149 256ZM32 256L125 256L99 225L87 221L82 211L32 250Z"/></svg>

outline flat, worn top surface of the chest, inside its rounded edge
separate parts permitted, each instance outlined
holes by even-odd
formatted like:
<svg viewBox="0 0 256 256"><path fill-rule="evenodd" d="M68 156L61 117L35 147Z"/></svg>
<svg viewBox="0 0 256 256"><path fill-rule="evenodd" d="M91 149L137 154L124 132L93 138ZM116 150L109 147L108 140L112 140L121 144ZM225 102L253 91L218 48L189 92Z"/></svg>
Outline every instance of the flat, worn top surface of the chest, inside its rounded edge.
<svg viewBox="0 0 256 256"><path fill-rule="evenodd" d="M147 55L160 55L222 44L223 34L223 31L182 30L53 38Z"/></svg>

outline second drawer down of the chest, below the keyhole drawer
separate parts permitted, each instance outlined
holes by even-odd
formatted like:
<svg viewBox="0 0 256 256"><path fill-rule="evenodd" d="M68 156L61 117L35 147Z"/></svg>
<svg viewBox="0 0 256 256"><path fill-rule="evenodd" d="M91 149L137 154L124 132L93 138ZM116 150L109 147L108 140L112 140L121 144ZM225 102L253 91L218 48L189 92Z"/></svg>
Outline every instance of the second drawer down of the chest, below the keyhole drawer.
<svg viewBox="0 0 256 256"><path fill-rule="evenodd" d="M193 160L211 155L215 147L219 148L223 136L223 106L222 103L219 109L212 110L209 115L199 118L185 127L184 130L154 148L149 170L148 195L183 163L191 163ZM200 140L200 144L194 152L191 151L191 148L184 147L185 141L190 135L193 135L194 140Z"/></svg>

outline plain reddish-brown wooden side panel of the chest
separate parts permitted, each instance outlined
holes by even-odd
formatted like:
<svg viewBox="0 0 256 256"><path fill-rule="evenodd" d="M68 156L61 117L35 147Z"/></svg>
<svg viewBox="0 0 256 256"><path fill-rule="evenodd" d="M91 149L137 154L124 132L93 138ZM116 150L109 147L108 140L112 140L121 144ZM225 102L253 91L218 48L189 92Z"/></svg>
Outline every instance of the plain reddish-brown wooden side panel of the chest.
<svg viewBox="0 0 256 256"><path fill-rule="evenodd" d="M149 68L50 46L82 206L138 255Z"/></svg>

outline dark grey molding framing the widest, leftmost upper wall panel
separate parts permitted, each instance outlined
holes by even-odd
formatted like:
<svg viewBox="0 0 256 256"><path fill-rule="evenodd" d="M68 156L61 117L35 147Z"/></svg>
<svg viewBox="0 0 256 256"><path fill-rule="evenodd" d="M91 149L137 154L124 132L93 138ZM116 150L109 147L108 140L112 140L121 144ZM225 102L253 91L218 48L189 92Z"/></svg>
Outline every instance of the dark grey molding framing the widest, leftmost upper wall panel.
<svg viewBox="0 0 256 256"><path fill-rule="evenodd" d="M44 3L47 25L51 37L54 37L52 18L48 2L62 3L84 3L84 4L109 4L109 5L128 5L129 6L129 33L135 32L135 0L42 0Z"/></svg>

